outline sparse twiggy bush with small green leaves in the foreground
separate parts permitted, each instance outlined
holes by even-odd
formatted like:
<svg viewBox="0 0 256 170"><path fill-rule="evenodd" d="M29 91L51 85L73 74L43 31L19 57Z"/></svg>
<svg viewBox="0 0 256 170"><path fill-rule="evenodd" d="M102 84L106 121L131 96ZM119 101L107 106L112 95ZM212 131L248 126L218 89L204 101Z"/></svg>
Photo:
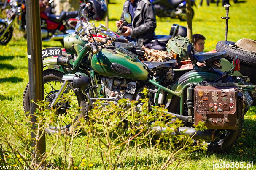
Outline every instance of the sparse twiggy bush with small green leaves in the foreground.
<svg viewBox="0 0 256 170"><path fill-rule="evenodd" d="M144 93L147 91L144 90ZM125 100L120 100L118 105L110 104L104 109L98 107L91 110L87 116L74 122L76 128L63 135L46 135L46 152L42 155L36 149L40 145L39 139L44 137L49 125L62 124L58 120L65 115L56 117L55 110L43 110L49 105L45 101L38 103L35 114L38 122L35 124L25 115L23 122L10 122L0 113L1 124L7 124L11 130L11 133L5 133L6 129L0 129L0 165L33 170L158 170L170 166L175 169L182 161L179 159L181 154L207 149L206 143L195 142L188 135L171 136L173 130L182 126L182 121L177 119L171 122L170 117L164 116L163 107L150 106L152 111L148 111L148 99L144 98L140 103L140 112L135 102L124 109L128 104ZM197 128L201 130L205 128L202 124L199 126ZM158 133L154 127L166 130Z"/></svg>

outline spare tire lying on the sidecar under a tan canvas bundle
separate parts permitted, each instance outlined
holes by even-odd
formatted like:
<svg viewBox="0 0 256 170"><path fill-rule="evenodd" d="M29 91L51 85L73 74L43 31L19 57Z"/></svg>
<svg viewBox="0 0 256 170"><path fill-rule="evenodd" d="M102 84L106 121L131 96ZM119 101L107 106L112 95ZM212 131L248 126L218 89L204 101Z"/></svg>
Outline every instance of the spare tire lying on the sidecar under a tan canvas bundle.
<svg viewBox="0 0 256 170"><path fill-rule="evenodd" d="M219 41L216 44L216 51L227 51L227 58L234 59L236 56L240 59L241 63L256 66L256 54L250 54L249 52L232 48L229 44L235 45L232 41Z"/></svg>

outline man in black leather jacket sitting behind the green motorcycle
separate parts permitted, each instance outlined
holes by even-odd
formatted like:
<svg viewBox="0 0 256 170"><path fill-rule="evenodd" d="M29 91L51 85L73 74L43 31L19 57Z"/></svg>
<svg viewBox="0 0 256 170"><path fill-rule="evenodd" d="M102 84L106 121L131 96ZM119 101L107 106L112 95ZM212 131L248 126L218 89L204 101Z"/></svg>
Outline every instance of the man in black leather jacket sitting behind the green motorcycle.
<svg viewBox="0 0 256 170"><path fill-rule="evenodd" d="M125 12L130 12L133 19L131 24L123 26L125 32L121 33L126 37L135 38L137 46L141 47L149 43L155 35L156 18L155 10L149 0L127 0L123 6L121 19L116 21L119 27L124 21Z"/></svg>

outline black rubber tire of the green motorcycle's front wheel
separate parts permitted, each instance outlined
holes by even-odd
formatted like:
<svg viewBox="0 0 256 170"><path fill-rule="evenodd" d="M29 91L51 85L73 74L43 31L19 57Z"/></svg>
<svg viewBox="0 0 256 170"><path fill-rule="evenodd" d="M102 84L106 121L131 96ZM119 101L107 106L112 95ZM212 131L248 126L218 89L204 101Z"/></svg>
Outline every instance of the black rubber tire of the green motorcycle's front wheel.
<svg viewBox="0 0 256 170"><path fill-rule="evenodd" d="M53 69L48 69L48 70L44 70L44 76L47 76L47 75L50 75L50 74L52 74L52 75L54 75L54 76L57 76L57 77L59 77L59 78L61 78L62 79L62 75L63 75L63 73L62 72L59 72L59 71L56 71L56 70L53 70ZM61 74L61 75L60 75ZM80 92L80 91L76 91L76 93L77 93L77 98L78 98L78 100L80 99L80 107L81 107L81 109L80 109L80 114L79 114L79 116L78 116L78 118L77 118L77 121L79 121L79 118L82 118L82 117L84 117L84 116L86 116L85 115L85 110L86 110L86 108L85 108L85 106L86 106L86 104L85 104L85 98L84 98L84 95L83 95L83 93L82 92ZM24 110L24 112L25 112L25 114L30 110L30 100L29 100L29 83L26 85L26 87L25 87L25 90L24 90L24 92L23 92L23 98L22 98L22 105L23 105L23 110ZM78 125L78 123L76 123L76 126L75 127L77 127L77 125ZM74 128L75 128L74 127ZM52 130L52 129L45 129L45 131L47 132L47 133L50 133L50 134L55 134L55 133L61 133L61 134L64 134L65 133L65 131L67 130L67 131L69 131L69 129L70 129L70 127L69 128L66 128L66 129L64 129L64 130L61 130L61 131L56 131L56 130Z"/></svg>

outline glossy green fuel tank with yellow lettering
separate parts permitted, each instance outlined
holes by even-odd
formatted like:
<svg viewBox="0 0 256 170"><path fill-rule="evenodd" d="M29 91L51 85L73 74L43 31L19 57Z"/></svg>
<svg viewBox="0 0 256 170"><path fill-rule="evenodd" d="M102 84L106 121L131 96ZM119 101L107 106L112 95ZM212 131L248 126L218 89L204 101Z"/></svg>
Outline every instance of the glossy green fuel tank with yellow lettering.
<svg viewBox="0 0 256 170"><path fill-rule="evenodd" d="M138 56L123 48L116 51L101 49L91 59L91 67L99 75L147 80L148 72Z"/></svg>

